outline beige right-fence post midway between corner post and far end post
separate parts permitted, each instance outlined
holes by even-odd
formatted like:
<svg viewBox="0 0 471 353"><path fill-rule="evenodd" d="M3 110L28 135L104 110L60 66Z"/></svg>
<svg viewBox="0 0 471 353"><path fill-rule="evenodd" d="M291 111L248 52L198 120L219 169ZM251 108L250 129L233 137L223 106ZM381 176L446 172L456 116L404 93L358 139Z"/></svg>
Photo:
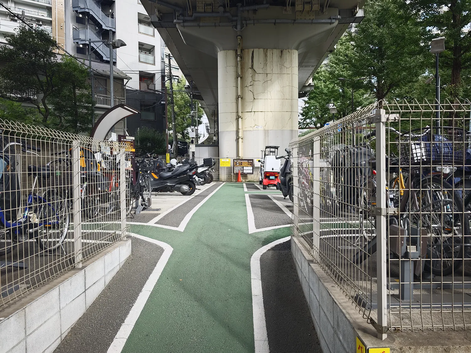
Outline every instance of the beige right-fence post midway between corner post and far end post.
<svg viewBox="0 0 471 353"><path fill-rule="evenodd" d="M321 137L314 136L312 153L312 253L319 260L320 241L320 152Z"/></svg>

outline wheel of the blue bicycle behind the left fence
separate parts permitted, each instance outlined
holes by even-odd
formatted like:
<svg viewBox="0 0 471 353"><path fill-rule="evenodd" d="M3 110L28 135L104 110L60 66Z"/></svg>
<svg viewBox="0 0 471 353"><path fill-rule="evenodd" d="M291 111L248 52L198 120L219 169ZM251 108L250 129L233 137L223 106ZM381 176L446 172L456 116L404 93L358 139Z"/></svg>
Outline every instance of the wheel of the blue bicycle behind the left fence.
<svg viewBox="0 0 471 353"><path fill-rule="evenodd" d="M38 199L39 200L39 199ZM33 201L34 202L34 201ZM41 249L57 249L65 240L70 224L69 203L58 191L48 191L42 201L33 203L33 213L39 224L37 241Z"/></svg>

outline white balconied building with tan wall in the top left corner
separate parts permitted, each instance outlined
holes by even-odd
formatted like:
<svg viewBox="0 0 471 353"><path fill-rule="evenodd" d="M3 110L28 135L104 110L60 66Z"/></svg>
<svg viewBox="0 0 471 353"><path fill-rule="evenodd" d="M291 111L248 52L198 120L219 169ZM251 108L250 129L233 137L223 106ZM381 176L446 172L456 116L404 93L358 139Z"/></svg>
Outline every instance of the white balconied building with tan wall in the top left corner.
<svg viewBox="0 0 471 353"><path fill-rule="evenodd" d="M2 3L28 24L48 31L56 37L59 45L65 46L64 1L2 0ZM0 7L0 43L5 43L5 35L15 33L15 30L22 25L23 22L16 16Z"/></svg>

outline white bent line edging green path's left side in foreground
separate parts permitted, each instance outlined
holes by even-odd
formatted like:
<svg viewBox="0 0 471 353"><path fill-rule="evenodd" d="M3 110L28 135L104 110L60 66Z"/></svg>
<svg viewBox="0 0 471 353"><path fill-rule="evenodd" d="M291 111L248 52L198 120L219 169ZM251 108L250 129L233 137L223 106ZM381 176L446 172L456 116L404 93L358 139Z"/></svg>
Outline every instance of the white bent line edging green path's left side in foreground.
<svg viewBox="0 0 471 353"><path fill-rule="evenodd" d="M146 225L145 223L141 223L141 225ZM130 234L133 237L136 237L138 239L142 239L145 241L149 241L151 243L157 244L161 248L163 248L163 254L159 259L159 262L157 262L157 265L155 265L154 271L151 273L149 278L146 281L146 284L142 288L137 300L134 302L134 305L131 308L131 311L128 314L128 317L126 320L122 323L121 328L119 329L118 333L114 337L114 340L110 347L108 348L107 353L121 353L122 348L126 344L126 341L128 340L128 337L136 324L136 321L138 321L138 317L140 313L142 312L142 309L144 308L144 305L146 305L147 299L150 296L150 293L154 289L155 284L157 283L157 280L159 279L163 268L167 264L167 261L170 258L170 255L173 251L173 248L162 241L154 240L151 238L146 238L143 237L142 235Z"/></svg>

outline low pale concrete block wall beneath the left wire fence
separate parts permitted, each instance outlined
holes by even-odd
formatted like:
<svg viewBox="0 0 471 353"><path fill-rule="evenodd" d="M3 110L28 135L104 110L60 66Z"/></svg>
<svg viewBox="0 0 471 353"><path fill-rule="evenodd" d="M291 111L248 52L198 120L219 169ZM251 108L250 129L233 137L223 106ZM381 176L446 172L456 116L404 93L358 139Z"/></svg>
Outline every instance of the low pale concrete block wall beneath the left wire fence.
<svg viewBox="0 0 471 353"><path fill-rule="evenodd" d="M119 241L0 312L0 353L53 352L130 254Z"/></svg>

